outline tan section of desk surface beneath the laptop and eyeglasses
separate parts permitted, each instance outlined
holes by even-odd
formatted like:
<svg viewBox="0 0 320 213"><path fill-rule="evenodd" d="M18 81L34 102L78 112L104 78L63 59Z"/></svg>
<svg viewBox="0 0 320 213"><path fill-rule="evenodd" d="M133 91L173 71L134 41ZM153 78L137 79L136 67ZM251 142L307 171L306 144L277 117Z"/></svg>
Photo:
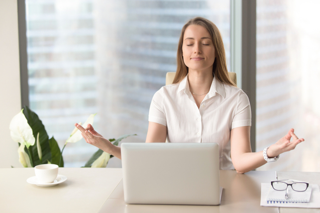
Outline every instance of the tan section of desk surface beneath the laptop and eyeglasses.
<svg viewBox="0 0 320 213"><path fill-rule="evenodd" d="M304 180L320 183L320 173L279 172L278 179ZM124 203L122 181L112 192L99 213L320 213L320 209L261 207L261 183L275 180L274 171L251 171L237 174L220 170L220 186L223 187L219 206L187 205L127 205Z"/></svg>

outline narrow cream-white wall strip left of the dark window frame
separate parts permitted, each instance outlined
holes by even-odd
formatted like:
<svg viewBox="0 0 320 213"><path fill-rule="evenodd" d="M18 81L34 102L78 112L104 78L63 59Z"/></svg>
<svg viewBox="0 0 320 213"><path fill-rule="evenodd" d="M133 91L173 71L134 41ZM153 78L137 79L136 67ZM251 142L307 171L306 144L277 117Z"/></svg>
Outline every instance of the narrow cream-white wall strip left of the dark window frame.
<svg viewBox="0 0 320 213"><path fill-rule="evenodd" d="M0 168L22 167L9 123L21 109L16 0L0 0Z"/></svg>

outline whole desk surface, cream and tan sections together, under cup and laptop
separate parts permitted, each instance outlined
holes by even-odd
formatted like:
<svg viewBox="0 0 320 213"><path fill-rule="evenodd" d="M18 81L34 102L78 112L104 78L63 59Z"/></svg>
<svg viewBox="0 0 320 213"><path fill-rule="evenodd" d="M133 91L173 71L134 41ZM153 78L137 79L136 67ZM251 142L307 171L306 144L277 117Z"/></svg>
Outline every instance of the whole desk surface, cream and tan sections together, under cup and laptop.
<svg viewBox="0 0 320 213"><path fill-rule="evenodd" d="M38 187L26 180L33 168L0 169L0 212L2 213L277 213L278 208L261 207L261 183L275 179L274 171L251 171L244 175L220 171L223 187L220 206L126 205L123 201L121 169L59 168L68 180L54 187ZM320 173L279 172L279 179L298 179L320 184ZM119 184L119 187L116 187ZM280 213L314 213L320 209L280 208Z"/></svg>

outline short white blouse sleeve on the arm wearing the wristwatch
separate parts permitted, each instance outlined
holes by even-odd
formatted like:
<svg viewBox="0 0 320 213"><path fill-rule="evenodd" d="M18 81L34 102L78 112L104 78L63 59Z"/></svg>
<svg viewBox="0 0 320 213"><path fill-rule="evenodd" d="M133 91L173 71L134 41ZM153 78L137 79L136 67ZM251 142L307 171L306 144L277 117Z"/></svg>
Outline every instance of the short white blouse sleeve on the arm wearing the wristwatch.
<svg viewBox="0 0 320 213"><path fill-rule="evenodd" d="M235 114L233 116L231 129L240 126L251 126L251 107L248 96L239 91Z"/></svg>

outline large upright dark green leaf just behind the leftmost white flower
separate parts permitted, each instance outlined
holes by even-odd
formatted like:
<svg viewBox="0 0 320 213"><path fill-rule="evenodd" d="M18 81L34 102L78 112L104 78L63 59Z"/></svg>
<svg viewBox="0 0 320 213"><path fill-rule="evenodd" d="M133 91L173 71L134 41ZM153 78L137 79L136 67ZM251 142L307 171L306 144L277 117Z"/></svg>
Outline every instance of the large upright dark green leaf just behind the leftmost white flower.
<svg viewBox="0 0 320 213"><path fill-rule="evenodd" d="M49 145L49 136L44 128L44 125L42 124L42 121L39 119L38 115L34 111L32 111L28 106L23 107L23 114L25 118L28 120L28 124L32 128L34 138L36 138L38 132L40 132L39 141L42 152L42 162L52 161ZM30 146L29 149L32 155L31 159L33 162L33 166L41 164L36 144Z"/></svg>

